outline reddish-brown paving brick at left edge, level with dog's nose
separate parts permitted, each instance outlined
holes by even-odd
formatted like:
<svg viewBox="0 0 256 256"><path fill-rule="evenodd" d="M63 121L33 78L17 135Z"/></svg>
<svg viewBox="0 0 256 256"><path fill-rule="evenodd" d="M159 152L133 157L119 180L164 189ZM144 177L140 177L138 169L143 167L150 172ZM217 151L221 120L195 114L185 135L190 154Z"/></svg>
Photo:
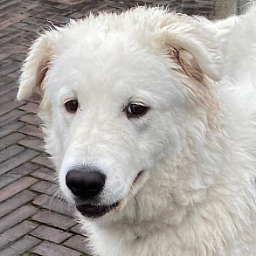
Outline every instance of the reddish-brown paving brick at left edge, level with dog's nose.
<svg viewBox="0 0 256 256"><path fill-rule="evenodd" d="M33 183L37 183L38 180L31 176L24 176L21 179L17 180L14 183L10 183L10 185L4 187L0 190L0 202L14 196L22 190L27 189Z"/></svg>

